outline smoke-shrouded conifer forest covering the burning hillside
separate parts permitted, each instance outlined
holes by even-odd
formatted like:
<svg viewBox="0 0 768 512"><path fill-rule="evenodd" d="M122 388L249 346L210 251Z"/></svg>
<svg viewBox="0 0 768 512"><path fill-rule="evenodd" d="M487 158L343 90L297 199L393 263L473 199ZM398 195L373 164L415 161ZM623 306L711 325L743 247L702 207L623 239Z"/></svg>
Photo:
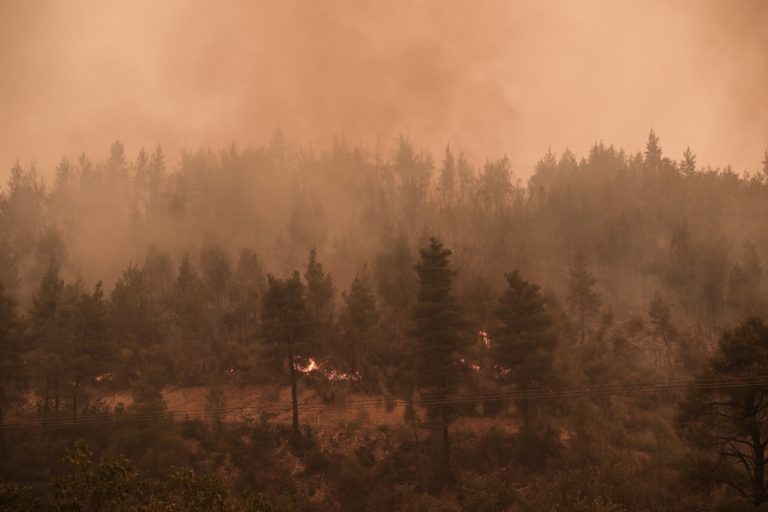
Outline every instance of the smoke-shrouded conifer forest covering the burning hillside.
<svg viewBox="0 0 768 512"><path fill-rule="evenodd" d="M768 151L640 145L17 162L0 510L768 510Z"/></svg>

